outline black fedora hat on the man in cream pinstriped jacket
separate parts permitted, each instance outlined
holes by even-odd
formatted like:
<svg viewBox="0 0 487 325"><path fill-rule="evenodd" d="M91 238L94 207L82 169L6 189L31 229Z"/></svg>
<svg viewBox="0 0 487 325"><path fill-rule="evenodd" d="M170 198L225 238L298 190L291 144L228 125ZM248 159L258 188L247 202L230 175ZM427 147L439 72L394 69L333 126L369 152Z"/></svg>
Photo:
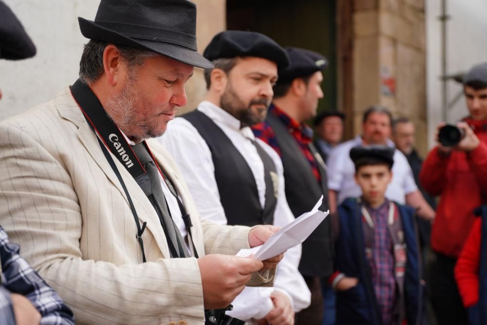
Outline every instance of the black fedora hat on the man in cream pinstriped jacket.
<svg viewBox="0 0 487 325"><path fill-rule="evenodd" d="M188 0L101 0L94 21L78 17L84 37L149 50L200 68L196 5Z"/></svg>

